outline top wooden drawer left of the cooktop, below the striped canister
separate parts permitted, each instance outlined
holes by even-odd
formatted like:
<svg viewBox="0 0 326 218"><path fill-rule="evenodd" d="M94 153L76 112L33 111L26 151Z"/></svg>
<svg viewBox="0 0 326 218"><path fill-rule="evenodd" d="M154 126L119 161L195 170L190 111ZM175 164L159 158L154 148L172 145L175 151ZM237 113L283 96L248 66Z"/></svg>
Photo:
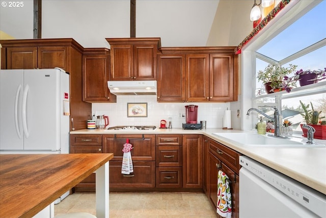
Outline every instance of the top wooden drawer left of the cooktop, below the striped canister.
<svg viewBox="0 0 326 218"><path fill-rule="evenodd" d="M70 146L102 146L102 135L81 134L70 135Z"/></svg>

